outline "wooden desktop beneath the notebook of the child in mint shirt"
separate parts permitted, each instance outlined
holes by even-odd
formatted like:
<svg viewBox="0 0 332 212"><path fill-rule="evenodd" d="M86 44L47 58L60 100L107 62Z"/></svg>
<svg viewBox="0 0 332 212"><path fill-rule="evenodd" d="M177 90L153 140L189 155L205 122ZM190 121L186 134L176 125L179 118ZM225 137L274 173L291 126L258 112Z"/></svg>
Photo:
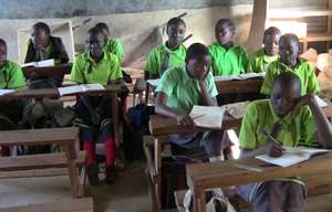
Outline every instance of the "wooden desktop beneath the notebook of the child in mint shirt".
<svg viewBox="0 0 332 212"><path fill-rule="evenodd" d="M239 126L240 121L240 119L236 119L228 115L225 115L221 128L229 129L232 127L237 127ZM195 132L197 130L205 129L177 125L176 120L172 118L165 118L158 115L149 116L149 131L153 136L167 136L170 134L189 134Z"/></svg>

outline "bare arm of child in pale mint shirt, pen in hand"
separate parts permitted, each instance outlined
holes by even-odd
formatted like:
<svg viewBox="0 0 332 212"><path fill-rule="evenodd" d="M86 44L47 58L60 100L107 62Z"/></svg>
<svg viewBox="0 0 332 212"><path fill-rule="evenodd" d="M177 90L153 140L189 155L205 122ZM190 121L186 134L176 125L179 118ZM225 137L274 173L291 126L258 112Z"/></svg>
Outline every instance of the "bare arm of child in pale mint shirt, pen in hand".
<svg viewBox="0 0 332 212"><path fill-rule="evenodd" d="M164 92L157 93L157 97L155 100L156 114L158 114L160 116L166 116L166 117L173 118L180 125L193 126L194 120L190 118L190 116L188 114L178 113L178 112L175 112L174 109L169 108L167 106L167 99L168 99L167 94L165 94Z"/></svg>

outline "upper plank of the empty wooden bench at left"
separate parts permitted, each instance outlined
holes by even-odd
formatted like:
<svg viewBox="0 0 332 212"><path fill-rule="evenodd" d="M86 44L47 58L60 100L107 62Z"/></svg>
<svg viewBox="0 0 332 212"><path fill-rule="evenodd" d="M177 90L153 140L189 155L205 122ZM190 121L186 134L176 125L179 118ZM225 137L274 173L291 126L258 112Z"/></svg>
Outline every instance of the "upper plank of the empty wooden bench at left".
<svg viewBox="0 0 332 212"><path fill-rule="evenodd" d="M0 131L1 145L64 145L76 140L75 127Z"/></svg>

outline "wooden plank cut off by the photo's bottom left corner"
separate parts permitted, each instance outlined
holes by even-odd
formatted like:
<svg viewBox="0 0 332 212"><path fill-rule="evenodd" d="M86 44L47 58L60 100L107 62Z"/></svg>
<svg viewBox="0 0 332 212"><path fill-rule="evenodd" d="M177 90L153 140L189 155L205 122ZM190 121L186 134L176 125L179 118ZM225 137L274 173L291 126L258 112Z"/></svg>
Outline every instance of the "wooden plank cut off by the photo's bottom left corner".
<svg viewBox="0 0 332 212"><path fill-rule="evenodd" d="M62 200L53 203L2 208L0 209L0 212L93 212L93 208L94 206L92 198L82 198Z"/></svg>

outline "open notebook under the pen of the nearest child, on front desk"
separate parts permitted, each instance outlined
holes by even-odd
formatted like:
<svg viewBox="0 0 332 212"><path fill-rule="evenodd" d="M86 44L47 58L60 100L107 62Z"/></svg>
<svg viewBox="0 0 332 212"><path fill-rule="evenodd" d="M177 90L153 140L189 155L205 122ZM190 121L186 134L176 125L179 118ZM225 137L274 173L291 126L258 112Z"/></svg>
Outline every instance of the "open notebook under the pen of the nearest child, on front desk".
<svg viewBox="0 0 332 212"><path fill-rule="evenodd" d="M280 167L290 167L292 165L309 160L314 155L330 151L328 149L317 149L309 147L284 147L284 149L286 152L279 158L273 158L268 155L260 155L256 156L255 158Z"/></svg>

